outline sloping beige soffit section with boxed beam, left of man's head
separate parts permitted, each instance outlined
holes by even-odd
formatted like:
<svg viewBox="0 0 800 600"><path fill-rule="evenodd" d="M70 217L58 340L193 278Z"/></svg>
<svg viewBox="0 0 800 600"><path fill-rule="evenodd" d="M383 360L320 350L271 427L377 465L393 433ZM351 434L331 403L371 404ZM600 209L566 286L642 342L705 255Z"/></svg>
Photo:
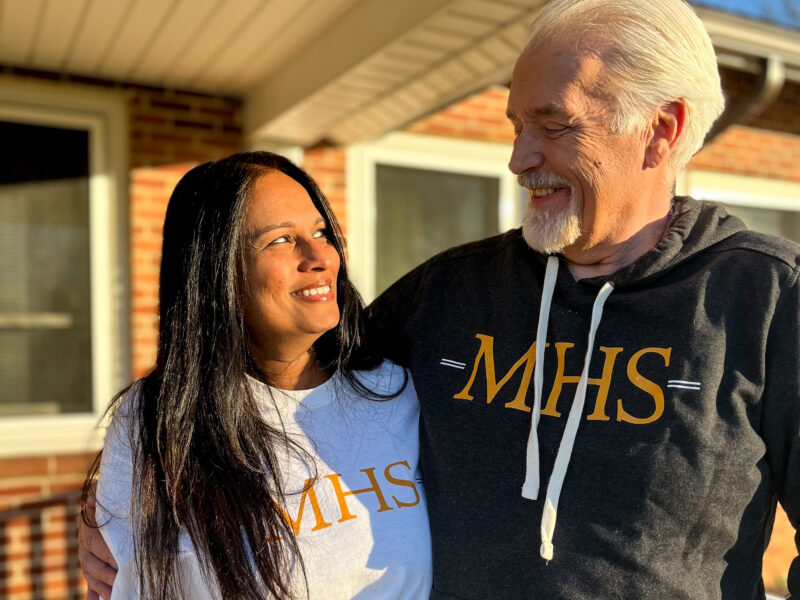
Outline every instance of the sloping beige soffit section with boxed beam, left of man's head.
<svg viewBox="0 0 800 600"><path fill-rule="evenodd" d="M492 83L510 79L528 26L543 1L364 0L324 38L247 96L247 130L256 138L307 145L375 138ZM334 48L372 29L346 60Z"/></svg>

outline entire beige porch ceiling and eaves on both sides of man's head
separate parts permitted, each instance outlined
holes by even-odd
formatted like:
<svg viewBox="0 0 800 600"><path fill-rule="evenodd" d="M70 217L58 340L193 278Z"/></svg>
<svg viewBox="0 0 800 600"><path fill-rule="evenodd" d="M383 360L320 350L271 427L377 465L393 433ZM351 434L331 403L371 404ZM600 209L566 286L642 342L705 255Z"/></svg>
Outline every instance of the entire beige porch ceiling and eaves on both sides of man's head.
<svg viewBox="0 0 800 600"><path fill-rule="evenodd" d="M379 136L491 83L545 0L0 0L0 65L242 98L251 141ZM800 34L700 9L736 68Z"/></svg>

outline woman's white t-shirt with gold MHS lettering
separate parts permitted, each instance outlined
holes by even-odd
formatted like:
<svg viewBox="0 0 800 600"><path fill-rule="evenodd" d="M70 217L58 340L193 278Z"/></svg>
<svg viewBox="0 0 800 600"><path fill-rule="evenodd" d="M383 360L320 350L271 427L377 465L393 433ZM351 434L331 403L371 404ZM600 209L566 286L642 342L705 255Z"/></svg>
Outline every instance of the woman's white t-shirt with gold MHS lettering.
<svg viewBox="0 0 800 600"><path fill-rule="evenodd" d="M358 376L368 389L387 393L399 388L403 370L385 361ZM362 398L338 375L302 391L277 390L255 380L251 384L262 401L264 418L273 425L282 422L291 439L313 458L309 464L297 453L281 457L284 509L297 534L309 597L428 598L431 543L419 471L419 404L410 377L403 393L386 401ZM98 522L119 565L111 600L139 597L126 404L106 435L97 488ZM313 485L303 492L315 475ZM209 589L200 575L185 533L179 552L185 596L219 598L219 591ZM297 585L302 596L302 584Z"/></svg>

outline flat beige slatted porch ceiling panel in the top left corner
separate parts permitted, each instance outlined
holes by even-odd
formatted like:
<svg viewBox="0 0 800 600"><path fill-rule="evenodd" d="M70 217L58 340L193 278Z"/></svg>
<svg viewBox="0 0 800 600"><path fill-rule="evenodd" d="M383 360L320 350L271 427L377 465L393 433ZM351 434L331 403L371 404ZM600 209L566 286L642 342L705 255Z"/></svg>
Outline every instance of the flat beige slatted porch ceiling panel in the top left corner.
<svg viewBox="0 0 800 600"><path fill-rule="evenodd" d="M0 0L0 64L243 96L358 0Z"/></svg>

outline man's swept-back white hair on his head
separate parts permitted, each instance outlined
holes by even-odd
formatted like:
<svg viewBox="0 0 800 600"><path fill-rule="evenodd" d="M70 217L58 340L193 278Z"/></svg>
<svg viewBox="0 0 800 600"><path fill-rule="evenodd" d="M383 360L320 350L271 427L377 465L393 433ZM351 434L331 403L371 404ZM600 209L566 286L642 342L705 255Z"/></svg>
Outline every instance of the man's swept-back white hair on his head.
<svg viewBox="0 0 800 600"><path fill-rule="evenodd" d="M711 39L683 0L552 0L531 26L526 50L561 38L596 50L606 67L603 89L611 129L641 131L654 112L682 100L687 115L672 152L677 177L703 145L725 100Z"/></svg>

